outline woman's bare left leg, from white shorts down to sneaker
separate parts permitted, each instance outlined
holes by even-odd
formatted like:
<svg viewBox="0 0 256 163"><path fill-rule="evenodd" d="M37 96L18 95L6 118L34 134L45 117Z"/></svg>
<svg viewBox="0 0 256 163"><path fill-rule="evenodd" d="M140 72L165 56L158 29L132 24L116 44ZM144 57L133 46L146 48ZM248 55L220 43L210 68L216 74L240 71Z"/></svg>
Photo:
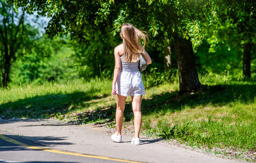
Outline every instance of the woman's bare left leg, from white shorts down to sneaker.
<svg viewBox="0 0 256 163"><path fill-rule="evenodd" d="M124 107L126 105L126 96L117 94L117 110L115 112L115 121L117 123L117 136L122 134L124 120Z"/></svg>

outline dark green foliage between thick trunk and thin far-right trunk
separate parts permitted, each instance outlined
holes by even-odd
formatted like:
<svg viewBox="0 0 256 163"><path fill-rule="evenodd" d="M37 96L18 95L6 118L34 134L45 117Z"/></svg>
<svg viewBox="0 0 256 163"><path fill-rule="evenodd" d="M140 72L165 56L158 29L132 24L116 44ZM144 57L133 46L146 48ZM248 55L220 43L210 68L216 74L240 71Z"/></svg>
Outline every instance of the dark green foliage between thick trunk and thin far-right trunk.
<svg viewBox="0 0 256 163"><path fill-rule="evenodd" d="M209 52L210 44L203 41L195 52L199 73L223 74L229 73L233 77L242 77L242 50L232 45L218 43L214 52Z"/></svg>

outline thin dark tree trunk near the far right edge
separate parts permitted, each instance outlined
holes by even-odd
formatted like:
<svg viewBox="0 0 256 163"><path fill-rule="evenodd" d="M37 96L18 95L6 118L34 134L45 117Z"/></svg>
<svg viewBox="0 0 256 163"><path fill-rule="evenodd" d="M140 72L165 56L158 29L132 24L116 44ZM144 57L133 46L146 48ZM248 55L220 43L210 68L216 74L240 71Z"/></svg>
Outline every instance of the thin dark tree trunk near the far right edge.
<svg viewBox="0 0 256 163"><path fill-rule="evenodd" d="M244 43L244 53L242 60L243 77L251 77L251 47L252 43Z"/></svg>

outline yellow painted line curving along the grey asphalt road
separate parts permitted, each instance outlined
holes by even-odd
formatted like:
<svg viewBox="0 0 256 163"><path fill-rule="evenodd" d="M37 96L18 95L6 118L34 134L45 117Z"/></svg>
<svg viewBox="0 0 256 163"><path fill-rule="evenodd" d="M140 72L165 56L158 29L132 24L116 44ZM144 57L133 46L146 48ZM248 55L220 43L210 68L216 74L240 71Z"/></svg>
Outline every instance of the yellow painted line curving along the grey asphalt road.
<svg viewBox="0 0 256 163"><path fill-rule="evenodd" d="M70 151L61 151L61 150L58 150L58 149L48 149L48 148L42 148L42 147L35 147L35 146L27 145L25 143L20 143L18 141L15 141L14 139L10 139L9 137L5 137L1 133L0 133L0 139L3 139L3 140L8 141L10 143L14 143L16 145L21 145L21 146L24 146L24 147L28 147L28 148L31 148L31 149L37 149L37 150L42 150L42 151L50 151L50 152L53 152L53 153L61 153L61 154L72 155L72 156L81 156L81 157L85 157L85 158L98 158L98 159L102 159L102 160L112 160L112 161L118 161L118 162L140 163L140 162L122 160L122 159L117 159L117 158L107 158L107 157L104 157L104 156L92 156L92 155L86 155L86 154L82 154L82 153L74 153L74 152L70 152Z"/></svg>

